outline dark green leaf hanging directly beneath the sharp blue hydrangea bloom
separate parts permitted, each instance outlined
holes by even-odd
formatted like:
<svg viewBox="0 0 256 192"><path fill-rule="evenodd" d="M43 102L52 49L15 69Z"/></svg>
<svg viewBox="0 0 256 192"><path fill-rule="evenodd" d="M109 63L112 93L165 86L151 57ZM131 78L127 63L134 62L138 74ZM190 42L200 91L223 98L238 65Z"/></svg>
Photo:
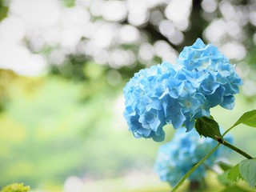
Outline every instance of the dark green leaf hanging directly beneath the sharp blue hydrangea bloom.
<svg viewBox="0 0 256 192"><path fill-rule="evenodd" d="M218 122L215 122L212 118L198 118L195 122L195 129L198 131L198 134L205 137L213 138L218 142L222 142L222 134L219 131Z"/></svg>

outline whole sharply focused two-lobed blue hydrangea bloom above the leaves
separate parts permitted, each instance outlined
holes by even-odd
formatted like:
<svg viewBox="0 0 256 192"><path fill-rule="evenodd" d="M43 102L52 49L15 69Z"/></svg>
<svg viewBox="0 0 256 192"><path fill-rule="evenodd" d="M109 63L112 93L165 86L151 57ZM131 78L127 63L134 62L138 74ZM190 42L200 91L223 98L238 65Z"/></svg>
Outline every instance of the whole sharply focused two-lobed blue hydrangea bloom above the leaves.
<svg viewBox="0 0 256 192"><path fill-rule="evenodd" d="M177 62L140 70L124 87L124 117L136 138L161 142L166 124L189 131L196 118L210 116L211 107L234 107L242 80L217 47L198 38L182 50Z"/></svg>

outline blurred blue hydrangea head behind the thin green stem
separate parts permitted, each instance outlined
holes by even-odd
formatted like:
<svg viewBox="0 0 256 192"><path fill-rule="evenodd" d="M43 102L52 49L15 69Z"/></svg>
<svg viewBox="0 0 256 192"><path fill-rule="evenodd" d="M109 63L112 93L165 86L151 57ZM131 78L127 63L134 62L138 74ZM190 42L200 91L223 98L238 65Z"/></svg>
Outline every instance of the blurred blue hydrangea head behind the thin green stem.
<svg viewBox="0 0 256 192"><path fill-rule="evenodd" d="M232 140L230 136L225 139ZM217 142L214 139L200 138L195 129L189 133L186 133L183 128L178 129L171 142L159 147L154 170L162 181L175 186L186 172L201 161L216 145ZM207 167L212 167L223 153L228 152L227 150L229 149L225 146L218 147L204 164L190 174L190 181L202 181L206 176Z"/></svg>

